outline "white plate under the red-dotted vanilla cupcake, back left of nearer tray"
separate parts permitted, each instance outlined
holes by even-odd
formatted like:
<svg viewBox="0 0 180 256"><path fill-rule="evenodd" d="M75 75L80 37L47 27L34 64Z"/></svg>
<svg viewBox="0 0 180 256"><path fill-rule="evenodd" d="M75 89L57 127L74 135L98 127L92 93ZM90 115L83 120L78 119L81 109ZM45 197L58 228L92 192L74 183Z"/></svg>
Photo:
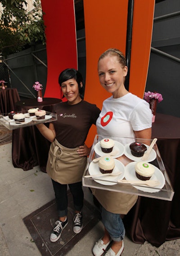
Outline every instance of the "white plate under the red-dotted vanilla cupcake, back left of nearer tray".
<svg viewBox="0 0 180 256"><path fill-rule="evenodd" d="M96 143L94 146L94 151L99 155L99 156L105 156L107 153L102 152L100 142ZM118 153L115 156L112 156L113 158L117 158L119 156L122 156L124 154L125 148L124 145L122 145L120 142L114 141L114 147L112 149L112 152L117 151Z"/></svg>

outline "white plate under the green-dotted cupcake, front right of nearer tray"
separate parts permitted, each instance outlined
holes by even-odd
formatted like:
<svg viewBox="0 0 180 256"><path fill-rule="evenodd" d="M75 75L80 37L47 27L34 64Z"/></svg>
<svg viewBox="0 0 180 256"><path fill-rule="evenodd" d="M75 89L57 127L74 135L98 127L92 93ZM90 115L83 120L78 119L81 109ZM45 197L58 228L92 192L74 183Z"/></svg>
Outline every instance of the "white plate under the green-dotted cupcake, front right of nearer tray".
<svg viewBox="0 0 180 256"><path fill-rule="evenodd" d="M136 162L131 162L128 165L126 165L125 170L125 178L126 180L139 180L136 175L135 175L135 164ZM153 176L150 178L150 180L159 180L160 181L160 185L154 187L154 188L150 188L147 185L143 185L143 186L138 186L138 185L132 185L133 187L135 187L138 190L142 190L144 192L149 192L149 193L155 193L158 192L158 189L162 189L163 186L165 185L165 178L164 175L162 174L162 171L160 171L156 166L154 166L154 174Z"/></svg>

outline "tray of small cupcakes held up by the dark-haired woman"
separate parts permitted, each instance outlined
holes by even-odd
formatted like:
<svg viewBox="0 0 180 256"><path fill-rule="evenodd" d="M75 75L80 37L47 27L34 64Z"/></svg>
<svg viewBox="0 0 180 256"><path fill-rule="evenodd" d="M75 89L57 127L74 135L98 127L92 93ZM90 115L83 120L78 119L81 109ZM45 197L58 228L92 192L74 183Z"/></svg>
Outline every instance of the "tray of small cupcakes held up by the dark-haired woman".
<svg viewBox="0 0 180 256"><path fill-rule="evenodd" d="M9 130L36 125L38 123L49 123L57 120L57 114L42 109L28 109L27 111L11 111L0 114L0 123Z"/></svg>

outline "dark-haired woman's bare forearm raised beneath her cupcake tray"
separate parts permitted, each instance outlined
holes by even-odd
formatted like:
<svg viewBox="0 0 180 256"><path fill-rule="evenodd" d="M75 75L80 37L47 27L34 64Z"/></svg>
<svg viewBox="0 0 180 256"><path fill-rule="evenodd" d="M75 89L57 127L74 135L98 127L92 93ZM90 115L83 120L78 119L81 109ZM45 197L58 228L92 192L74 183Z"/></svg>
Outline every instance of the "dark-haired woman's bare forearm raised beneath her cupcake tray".
<svg viewBox="0 0 180 256"><path fill-rule="evenodd" d="M40 133L47 139L49 142L54 142L54 139L56 137L56 132L54 129L54 124L49 123L49 128L45 126L44 123L36 124L36 127L40 131Z"/></svg>

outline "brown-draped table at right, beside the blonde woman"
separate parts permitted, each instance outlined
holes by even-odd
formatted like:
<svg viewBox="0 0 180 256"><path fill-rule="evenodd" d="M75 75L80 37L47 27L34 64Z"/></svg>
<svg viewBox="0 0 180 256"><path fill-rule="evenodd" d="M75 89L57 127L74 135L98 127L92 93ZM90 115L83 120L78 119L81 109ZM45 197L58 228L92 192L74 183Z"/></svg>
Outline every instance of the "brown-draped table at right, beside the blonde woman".
<svg viewBox="0 0 180 256"><path fill-rule="evenodd" d="M152 138L175 191L172 201L139 196L124 218L127 233L135 243L148 241L155 247L180 238L180 118L156 114Z"/></svg>

